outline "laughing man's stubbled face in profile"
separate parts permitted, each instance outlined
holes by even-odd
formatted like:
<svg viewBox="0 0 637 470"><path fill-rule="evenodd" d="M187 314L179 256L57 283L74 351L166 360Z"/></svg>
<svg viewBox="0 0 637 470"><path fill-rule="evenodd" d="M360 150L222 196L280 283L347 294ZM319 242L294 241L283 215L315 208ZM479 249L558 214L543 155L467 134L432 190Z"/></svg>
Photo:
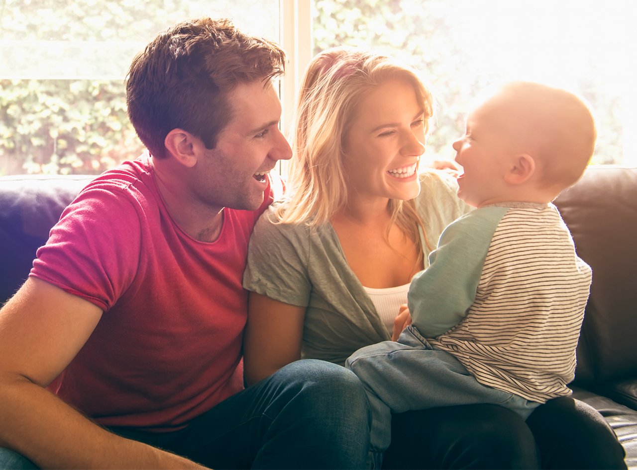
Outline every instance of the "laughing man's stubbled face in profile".
<svg viewBox="0 0 637 470"><path fill-rule="evenodd" d="M238 85L228 96L232 118L194 167L197 196L211 206L255 211L263 202L266 174L292 156L278 128L281 103L272 83Z"/></svg>

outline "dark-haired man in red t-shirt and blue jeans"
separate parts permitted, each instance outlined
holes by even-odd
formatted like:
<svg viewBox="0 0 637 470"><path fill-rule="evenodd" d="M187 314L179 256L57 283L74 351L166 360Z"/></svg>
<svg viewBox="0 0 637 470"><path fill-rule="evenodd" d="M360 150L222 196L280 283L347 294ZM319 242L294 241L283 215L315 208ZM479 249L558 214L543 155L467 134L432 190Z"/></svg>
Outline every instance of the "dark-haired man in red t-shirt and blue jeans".
<svg viewBox="0 0 637 470"><path fill-rule="evenodd" d="M134 59L148 155L78 195L0 311L0 467L364 465L369 409L347 370L299 361L243 390L248 239L291 155L284 58L202 18Z"/></svg>

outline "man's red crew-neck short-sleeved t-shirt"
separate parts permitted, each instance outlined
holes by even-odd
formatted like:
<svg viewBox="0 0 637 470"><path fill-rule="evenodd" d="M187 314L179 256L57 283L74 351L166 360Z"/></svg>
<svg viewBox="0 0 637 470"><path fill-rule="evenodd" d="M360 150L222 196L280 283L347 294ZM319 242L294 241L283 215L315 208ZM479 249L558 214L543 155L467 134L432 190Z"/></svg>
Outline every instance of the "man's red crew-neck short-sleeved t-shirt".
<svg viewBox="0 0 637 470"><path fill-rule="evenodd" d="M278 181L277 181L278 183ZM97 177L62 213L31 274L104 310L49 389L107 426L171 431L243 389L241 286L259 211L224 209L204 243L173 221L148 156Z"/></svg>

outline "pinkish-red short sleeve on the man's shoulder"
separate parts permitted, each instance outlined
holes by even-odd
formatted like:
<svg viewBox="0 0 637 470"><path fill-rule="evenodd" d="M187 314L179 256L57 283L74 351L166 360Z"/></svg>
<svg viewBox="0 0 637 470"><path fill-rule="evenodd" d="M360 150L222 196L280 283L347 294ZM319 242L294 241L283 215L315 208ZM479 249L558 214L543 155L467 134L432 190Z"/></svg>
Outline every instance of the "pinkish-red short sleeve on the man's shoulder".
<svg viewBox="0 0 637 470"><path fill-rule="evenodd" d="M84 190L38 249L31 275L106 311L131 285L140 244L140 216L127 197Z"/></svg>

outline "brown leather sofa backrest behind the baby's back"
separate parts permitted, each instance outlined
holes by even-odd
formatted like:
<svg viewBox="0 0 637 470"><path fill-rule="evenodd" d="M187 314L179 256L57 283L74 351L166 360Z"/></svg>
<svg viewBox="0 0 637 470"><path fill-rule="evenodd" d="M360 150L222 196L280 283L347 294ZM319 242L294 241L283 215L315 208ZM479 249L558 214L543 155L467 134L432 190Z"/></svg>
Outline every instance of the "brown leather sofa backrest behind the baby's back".
<svg viewBox="0 0 637 470"><path fill-rule="evenodd" d="M592 268L576 383L635 377L637 168L590 167L555 204Z"/></svg>

